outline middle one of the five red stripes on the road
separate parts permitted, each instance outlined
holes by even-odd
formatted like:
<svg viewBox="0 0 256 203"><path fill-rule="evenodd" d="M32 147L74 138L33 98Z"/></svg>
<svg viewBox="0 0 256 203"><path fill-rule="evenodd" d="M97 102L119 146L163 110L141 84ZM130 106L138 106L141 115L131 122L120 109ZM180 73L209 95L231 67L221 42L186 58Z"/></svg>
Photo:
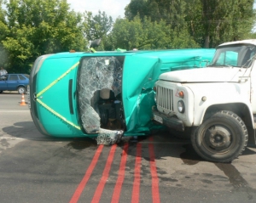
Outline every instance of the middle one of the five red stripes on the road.
<svg viewBox="0 0 256 203"><path fill-rule="evenodd" d="M113 195L112 195L112 203L119 202L119 197L122 189L122 185L125 179L125 165L126 165L126 160L127 160L127 152L128 152L128 143L125 143L123 153L122 153L122 158L121 162L119 165L119 177L115 183L115 187L113 189Z"/></svg>

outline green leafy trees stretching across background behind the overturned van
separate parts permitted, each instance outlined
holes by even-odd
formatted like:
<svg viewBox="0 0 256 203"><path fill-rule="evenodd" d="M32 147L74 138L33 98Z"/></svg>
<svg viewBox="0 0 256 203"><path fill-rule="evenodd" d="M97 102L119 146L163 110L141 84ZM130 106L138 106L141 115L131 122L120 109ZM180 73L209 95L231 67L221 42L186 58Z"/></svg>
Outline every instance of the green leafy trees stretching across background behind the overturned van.
<svg viewBox="0 0 256 203"><path fill-rule="evenodd" d="M254 24L253 0L131 0L114 22L70 11L67 0L0 0L0 65L29 73L39 55L84 51L98 38L97 50L215 48L255 38Z"/></svg>

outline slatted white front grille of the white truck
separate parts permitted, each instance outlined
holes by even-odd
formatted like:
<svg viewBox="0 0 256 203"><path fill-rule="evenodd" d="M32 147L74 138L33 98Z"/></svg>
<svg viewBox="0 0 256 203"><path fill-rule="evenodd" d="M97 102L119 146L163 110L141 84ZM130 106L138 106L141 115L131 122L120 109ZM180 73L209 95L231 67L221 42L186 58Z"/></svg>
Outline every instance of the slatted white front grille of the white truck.
<svg viewBox="0 0 256 203"><path fill-rule="evenodd" d="M173 90L166 87L157 87L157 106L173 111Z"/></svg>

